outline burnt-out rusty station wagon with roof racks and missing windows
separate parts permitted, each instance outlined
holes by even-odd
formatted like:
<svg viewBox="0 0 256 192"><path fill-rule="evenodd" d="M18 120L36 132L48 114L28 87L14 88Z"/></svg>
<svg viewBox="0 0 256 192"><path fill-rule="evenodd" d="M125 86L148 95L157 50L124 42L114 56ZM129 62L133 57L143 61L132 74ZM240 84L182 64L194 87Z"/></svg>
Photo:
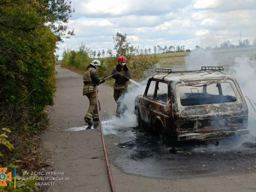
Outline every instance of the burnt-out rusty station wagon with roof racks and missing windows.
<svg viewBox="0 0 256 192"><path fill-rule="evenodd" d="M247 134L248 109L236 79L224 67L196 71L156 69L135 100L140 126L167 143L218 141Z"/></svg>

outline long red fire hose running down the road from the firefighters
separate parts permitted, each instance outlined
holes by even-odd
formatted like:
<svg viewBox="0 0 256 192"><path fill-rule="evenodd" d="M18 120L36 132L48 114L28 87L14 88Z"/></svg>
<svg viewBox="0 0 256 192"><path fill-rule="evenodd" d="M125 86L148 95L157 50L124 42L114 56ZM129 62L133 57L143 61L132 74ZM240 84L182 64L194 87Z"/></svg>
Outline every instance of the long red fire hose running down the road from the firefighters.
<svg viewBox="0 0 256 192"><path fill-rule="evenodd" d="M113 75L109 76L108 79L111 78L112 76ZM99 125L100 125L101 135L102 135L103 151L104 151L106 165L107 165L107 170L108 170L108 181L109 181L109 184L110 184L111 191L115 192L115 188L114 188L114 185L113 185L113 177L112 177L111 169L110 169L109 162L108 162L108 154L107 154L107 149L106 149L104 135L103 135L103 130L102 130L102 118L101 118L101 113L100 113L100 108L99 108L100 105L99 105L99 100L98 100L98 89L97 89L97 86L96 86L96 101L97 101L97 111L98 111L98 115L99 115Z"/></svg>

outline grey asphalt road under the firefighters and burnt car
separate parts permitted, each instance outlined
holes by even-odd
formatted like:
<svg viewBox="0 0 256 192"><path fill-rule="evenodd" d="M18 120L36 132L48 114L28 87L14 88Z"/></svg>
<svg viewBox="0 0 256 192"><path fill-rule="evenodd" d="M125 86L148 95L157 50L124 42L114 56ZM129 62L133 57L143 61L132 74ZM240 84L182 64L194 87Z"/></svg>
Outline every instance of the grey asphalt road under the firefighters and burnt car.
<svg viewBox="0 0 256 192"><path fill-rule="evenodd" d="M100 131L84 126L88 100L82 96L82 76L60 66L56 71L55 105L48 108L50 127L42 136L54 171L49 175L58 178L48 191L111 191ZM99 86L99 100L117 192L256 191L254 148L243 146L245 150L231 152L218 147L179 148L177 154L170 154L154 137L125 126L134 119L113 116L116 104L111 87Z"/></svg>

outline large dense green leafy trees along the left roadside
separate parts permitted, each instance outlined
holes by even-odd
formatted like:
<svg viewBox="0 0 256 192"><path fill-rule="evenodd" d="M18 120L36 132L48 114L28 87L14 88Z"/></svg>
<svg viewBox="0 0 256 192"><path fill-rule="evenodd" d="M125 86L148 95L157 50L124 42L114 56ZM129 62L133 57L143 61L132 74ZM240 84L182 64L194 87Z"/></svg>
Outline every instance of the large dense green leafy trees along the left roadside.
<svg viewBox="0 0 256 192"><path fill-rule="evenodd" d="M8 109L16 119L18 107L22 118L32 119L31 115L53 104L54 53L68 30L64 25L71 12L66 0L0 2L0 107L5 111L0 113L0 122Z"/></svg>

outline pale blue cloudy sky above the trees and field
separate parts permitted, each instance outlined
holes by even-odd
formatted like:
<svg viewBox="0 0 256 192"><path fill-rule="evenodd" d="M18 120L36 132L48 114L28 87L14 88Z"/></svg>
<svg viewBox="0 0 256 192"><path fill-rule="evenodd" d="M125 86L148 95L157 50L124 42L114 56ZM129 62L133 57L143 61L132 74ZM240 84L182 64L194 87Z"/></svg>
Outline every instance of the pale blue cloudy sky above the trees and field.
<svg viewBox="0 0 256 192"><path fill-rule="evenodd" d="M113 49L113 36L126 34L140 49L183 45L215 47L229 40L256 39L255 0L71 0L68 26L75 36L58 44L64 49Z"/></svg>

